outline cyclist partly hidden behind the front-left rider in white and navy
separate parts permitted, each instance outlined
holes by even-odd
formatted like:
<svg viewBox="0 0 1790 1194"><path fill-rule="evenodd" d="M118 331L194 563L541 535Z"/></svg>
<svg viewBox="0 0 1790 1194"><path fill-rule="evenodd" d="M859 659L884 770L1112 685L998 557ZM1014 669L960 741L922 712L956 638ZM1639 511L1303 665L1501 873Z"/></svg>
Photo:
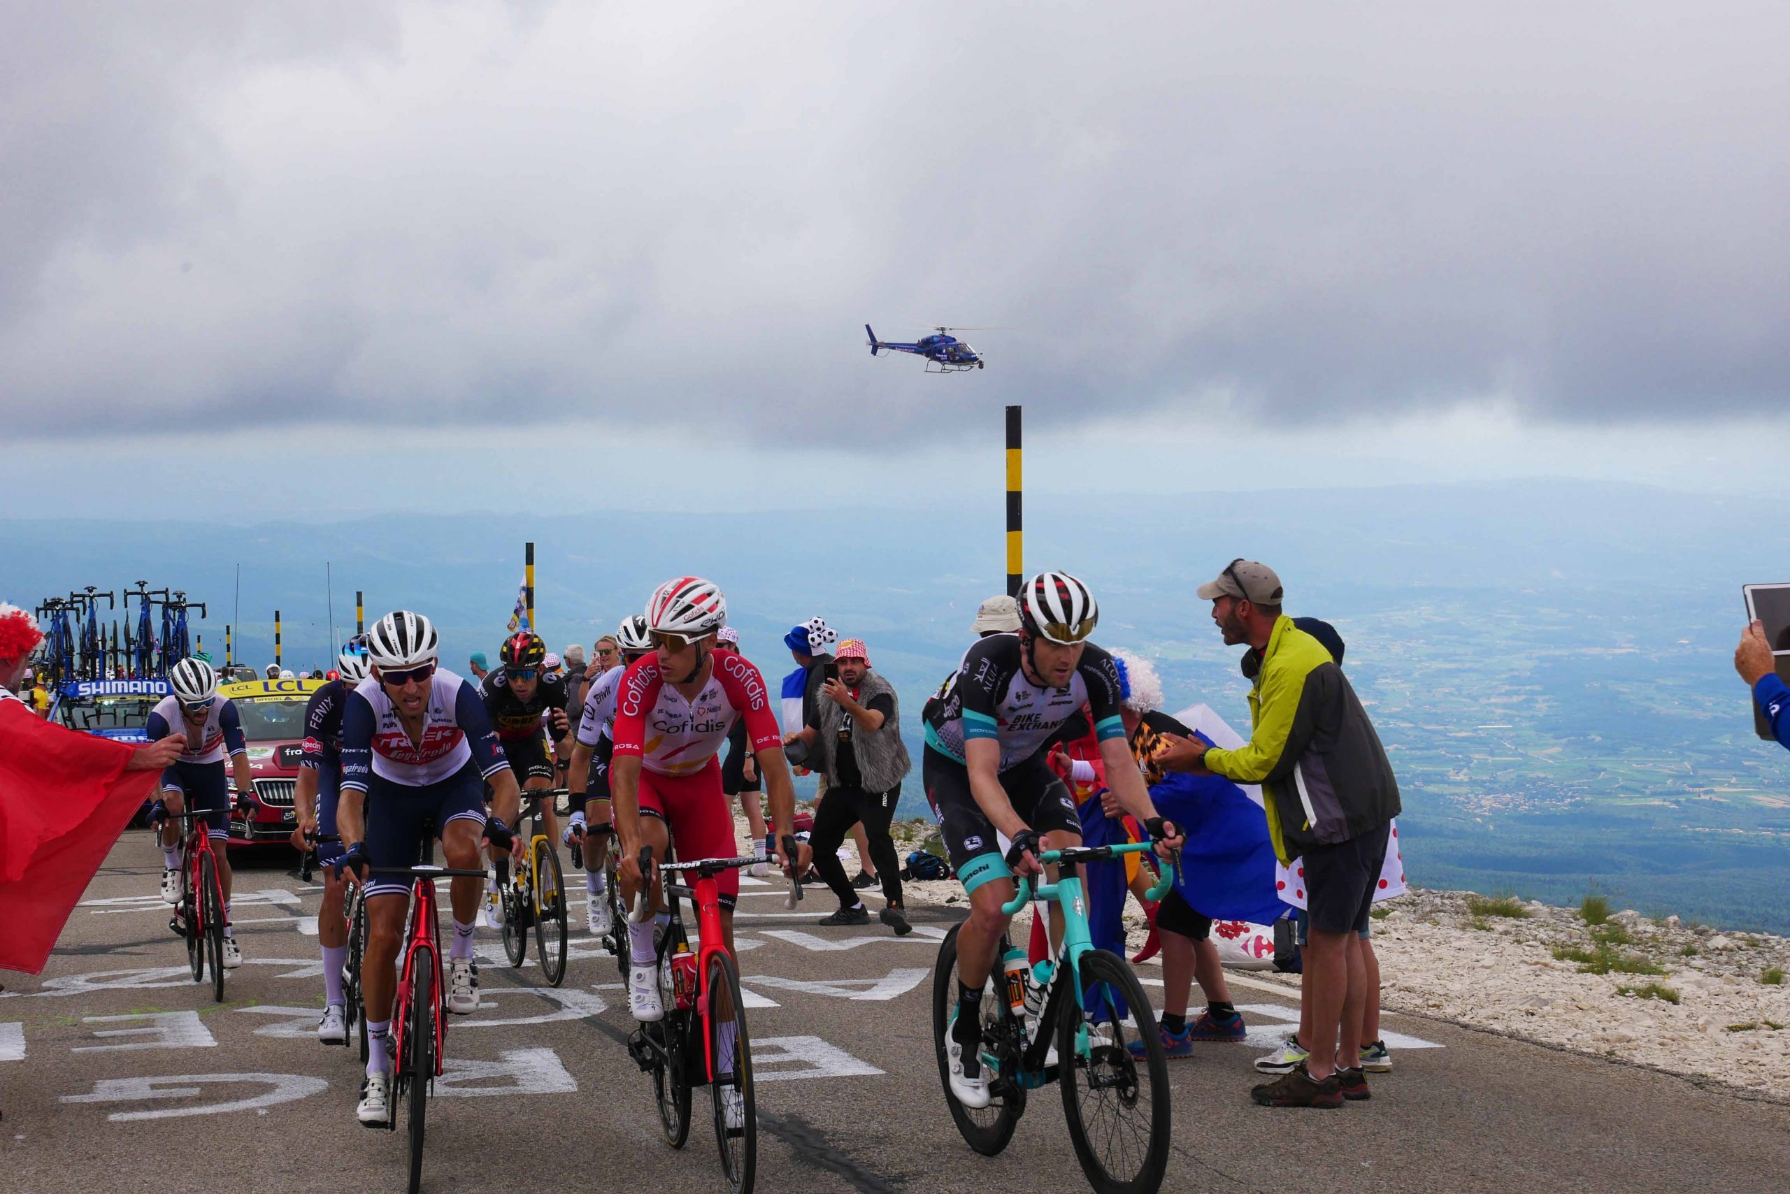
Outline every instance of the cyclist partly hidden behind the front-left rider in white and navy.
<svg viewBox="0 0 1790 1194"><path fill-rule="evenodd" d="M297 850L311 849L310 836L338 838L337 800L342 795L342 707L354 686L371 671L365 637L349 639L337 655L337 678L304 702L304 755L299 782L292 793L299 825L292 831ZM333 863L342 857L342 841L319 841L317 865L324 875L324 902L317 911L317 945L324 952L324 1017L317 1020L317 1040L340 1045L347 1040L347 995L342 990L342 963L347 961L347 883Z"/></svg>

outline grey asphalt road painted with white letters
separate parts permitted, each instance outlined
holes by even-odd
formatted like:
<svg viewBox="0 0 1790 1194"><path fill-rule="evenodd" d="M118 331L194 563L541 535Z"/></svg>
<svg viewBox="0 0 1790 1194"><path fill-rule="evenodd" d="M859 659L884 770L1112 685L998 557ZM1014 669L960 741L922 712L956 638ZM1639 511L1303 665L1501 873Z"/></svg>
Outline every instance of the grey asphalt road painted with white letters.
<svg viewBox="0 0 1790 1194"><path fill-rule="evenodd" d="M0 1189L403 1189L401 1133L353 1121L360 1065L313 1036L317 888L290 863L238 859L247 965L215 1004L166 931L159 857L125 834L45 974L0 976ZM759 1189L1087 1189L1053 1090L999 1158L952 1128L927 1022L947 913L916 909L902 940L875 924L822 929L831 900L811 893L795 915L768 884L741 900ZM449 1022L424 1189L721 1185L703 1092L684 1151L659 1137L607 952L576 929L555 992L532 958L499 961L494 933L482 929L482 951L485 1006ZM1767 1190L1790 1173L1783 1104L1409 1015L1385 1020L1396 1070L1373 1076L1371 1101L1258 1108L1249 1062L1296 1006L1262 976L1237 976L1233 997L1257 1040L1171 1063L1167 1190Z"/></svg>

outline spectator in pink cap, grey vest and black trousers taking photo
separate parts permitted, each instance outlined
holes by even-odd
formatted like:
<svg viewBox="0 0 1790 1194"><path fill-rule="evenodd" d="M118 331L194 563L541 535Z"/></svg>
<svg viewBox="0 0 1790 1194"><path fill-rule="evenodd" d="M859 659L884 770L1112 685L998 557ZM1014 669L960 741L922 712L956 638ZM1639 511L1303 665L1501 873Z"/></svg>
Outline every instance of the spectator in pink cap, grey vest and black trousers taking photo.
<svg viewBox="0 0 1790 1194"><path fill-rule="evenodd" d="M900 863L890 822L900 802L900 782L913 764L900 739L895 689L870 669L870 652L857 639L840 643L838 668L840 675L822 684L814 720L806 727L814 732L814 770L827 779L827 797L814 811L809 845L814 849L814 870L840 897L840 911L820 924L870 920L840 865L845 831L859 823L868 838L863 857L875 861L875 874L882 879L886 908L879 918L897 936L906 936L911 925L902 913Z"/></svg>

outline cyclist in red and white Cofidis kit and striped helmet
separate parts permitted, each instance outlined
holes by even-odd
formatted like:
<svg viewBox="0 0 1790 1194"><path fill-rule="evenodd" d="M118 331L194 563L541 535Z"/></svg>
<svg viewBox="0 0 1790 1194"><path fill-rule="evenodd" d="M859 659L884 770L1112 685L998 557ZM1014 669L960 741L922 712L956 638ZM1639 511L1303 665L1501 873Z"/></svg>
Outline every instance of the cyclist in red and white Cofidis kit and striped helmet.
<svg viewBox="0 0 1790 1194"><path fill-rule="evenodd" d="M702 576L668 580L646 603L653 653L634 661L621 677L609 784L616 836L621 838L616 875L630 902L643 881L643 845L653 849L655 859L666 856L673 836L678 857L686 861L737 854L734 811L721 791L716 752L739 718L746 721L748 746L764 773L777 829L777 861L788 874L807 870L806 845L797 847L798 857L784 856L782 840L795 832L795 788L770 691L745 655L716 650L716 634L725 623L727 598L714 584ZM723 870L716 883L721 888L721 933L732 952L739 872ZM657 877L652 902L655 911L664 908ZM661 1020L664 1002L659 997L650 918L628 924L628 1008L635 1020Z"/></svg>

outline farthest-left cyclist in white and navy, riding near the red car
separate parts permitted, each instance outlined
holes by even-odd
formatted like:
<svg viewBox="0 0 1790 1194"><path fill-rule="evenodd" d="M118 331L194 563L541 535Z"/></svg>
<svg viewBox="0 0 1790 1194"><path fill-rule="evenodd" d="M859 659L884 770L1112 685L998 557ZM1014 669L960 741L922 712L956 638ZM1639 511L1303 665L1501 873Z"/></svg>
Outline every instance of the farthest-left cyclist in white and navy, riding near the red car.
<svg viewBox="0 0 1790 1194"><path fill-rule="evenodd" d="M224 888L224 968L242 965L242 949L229 924L231 868L229 852L229 784L224 777L224 755L229 754L236 791L254 791L254 772L249 770L249 743L242 736L236 704L218 698L218 673L202 659L183 659L168 669L170 696L163 696L149 714L143 732L149 741L168 734L186 734L186 750L174 766L161 773L161 800L150 809L150 820L163 820L163 811L184 813L192 800L195 813L206 814L206 832L217 856L218 884ZM181 899L181 823L168 820L161 827L161 899L175 904Z"/></svg>

